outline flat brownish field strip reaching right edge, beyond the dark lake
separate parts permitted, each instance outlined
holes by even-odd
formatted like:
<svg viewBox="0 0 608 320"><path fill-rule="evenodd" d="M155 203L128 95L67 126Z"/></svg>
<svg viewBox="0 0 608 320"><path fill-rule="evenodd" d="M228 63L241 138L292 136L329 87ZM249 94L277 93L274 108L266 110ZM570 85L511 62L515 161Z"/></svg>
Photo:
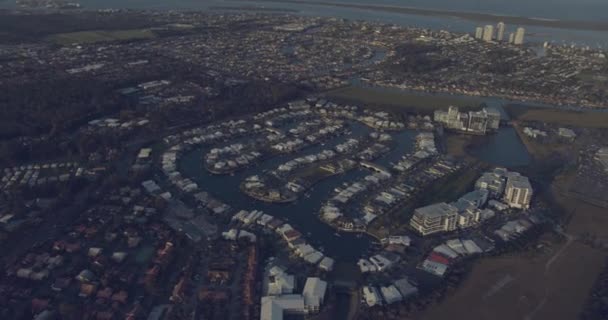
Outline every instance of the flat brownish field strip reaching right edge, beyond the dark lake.
<svg viewBox="0 0 608 320"><path fill-rule="evenodd" d="M520 105L507 105L505 110L513 120L542 121L573 127L608 128L608 112L578 112Z"/></svg>

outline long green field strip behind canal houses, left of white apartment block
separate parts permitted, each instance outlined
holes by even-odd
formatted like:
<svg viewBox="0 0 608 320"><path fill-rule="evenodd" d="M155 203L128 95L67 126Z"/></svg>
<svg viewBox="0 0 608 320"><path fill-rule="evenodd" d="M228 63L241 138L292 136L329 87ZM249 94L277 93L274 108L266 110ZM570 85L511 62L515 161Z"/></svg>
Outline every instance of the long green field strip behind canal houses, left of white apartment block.
<svg viewBox="0 0 608 320"><path fill-rule="evenodd" d="M384 90L379 88L345 87L326 93L332 101L363 104L370 108L392 112L416 112L430 114L435 109L457 106L463 110L476 109L481 100L476 98L420 95L415 93Z"/></svg>

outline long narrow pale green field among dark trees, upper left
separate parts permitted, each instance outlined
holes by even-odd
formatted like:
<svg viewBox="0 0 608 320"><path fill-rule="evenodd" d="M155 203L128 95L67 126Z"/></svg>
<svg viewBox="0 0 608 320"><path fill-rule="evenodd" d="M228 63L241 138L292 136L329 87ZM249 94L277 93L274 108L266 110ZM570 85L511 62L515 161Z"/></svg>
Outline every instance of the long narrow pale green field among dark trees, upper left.
<svg viewBox="0 0 608 320"><path fill-rule="evenodd" d="M156 35L148 29L130 29L116 31L81 31L70 33L58 33L48 37L48 40L57 44L72 43L96 43L119 40L152 39Z"/></svg>

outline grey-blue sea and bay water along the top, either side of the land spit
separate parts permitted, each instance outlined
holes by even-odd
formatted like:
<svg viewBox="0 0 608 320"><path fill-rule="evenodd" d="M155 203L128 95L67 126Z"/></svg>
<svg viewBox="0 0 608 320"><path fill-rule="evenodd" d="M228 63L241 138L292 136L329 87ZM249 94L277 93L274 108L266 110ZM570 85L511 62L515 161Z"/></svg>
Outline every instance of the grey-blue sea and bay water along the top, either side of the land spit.
<svg viewBox="0 0 608 320"><path fill-rule="evenodd" d="M608 21L608 0L304 0L309 2L342 2L403 6L463 12L480 12L497 15L513 15L542 19ZM79 0L88 9L132 8L149 10L209 10L213 6L239 7L264 6L297 10L306 16L339 17L444 29L472 33L482 23L450 17L408 15L393 12L371 11L352 8L327 7L314 4L264 2L263 0ZM0 8L14 7L14 0L0 0ZM498 21L496 21L498 22ZM484 23L485 24L485 23ZM507 32L517 26L507 25ZM579 46L608 48L608 32L571 30L524 26L527 40L542 43L566 43Z"/></svg>

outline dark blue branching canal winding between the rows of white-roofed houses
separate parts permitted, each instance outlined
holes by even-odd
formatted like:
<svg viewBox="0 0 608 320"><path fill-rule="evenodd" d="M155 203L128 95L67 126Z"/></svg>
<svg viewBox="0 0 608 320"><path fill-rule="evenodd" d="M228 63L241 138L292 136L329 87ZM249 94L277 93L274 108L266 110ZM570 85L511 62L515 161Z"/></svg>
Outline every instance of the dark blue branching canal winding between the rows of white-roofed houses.
<svg viewBox="0 0 608 320"><path fill-rule="evenodd" d="M318 219L317 213L321 204L326 201L333 189L343 183L352 182L369 174L368 171L355 169L348 174L334 176L316 184L305 196L296 202L286 204L272 204L254 200L239 190L239 184L248 176L261 175L264 171L276 168L282 163L302 155L314 154L324 149L335 147L349 138L361 138L372 132L372 129L355 122L349 123L351 135L336 137L324 145L308 147L296 154L276 156L263 163L236 172L234 175L213 175L202 167L202 157L208 148L199 148L185 154L180 160L179 167L183 175L196 181L201 189L224 201L230 206L244 210L262 210L275 217L288 220L297 230L302 232L307 241L317 248L322 248L328 256L341 260L354 262L369 248L372 239L366 235L357 236L353 233L336 233L336 231ZM410 135L413 136L413 133ZM401 137L407 134L401 134ZM229 144L228 142L227 144ZM388 158L400 157L410 150L410 139L399 139L395 149Z"/></svg>

